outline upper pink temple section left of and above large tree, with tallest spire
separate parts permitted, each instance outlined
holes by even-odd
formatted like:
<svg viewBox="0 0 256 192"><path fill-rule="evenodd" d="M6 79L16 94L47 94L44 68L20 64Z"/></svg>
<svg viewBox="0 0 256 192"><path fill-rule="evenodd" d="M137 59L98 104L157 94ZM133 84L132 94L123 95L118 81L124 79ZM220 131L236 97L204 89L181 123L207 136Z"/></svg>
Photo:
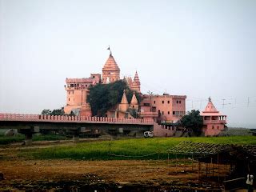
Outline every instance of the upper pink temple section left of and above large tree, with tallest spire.
<svg viewBox="0 0 256 192"><path fill-rule="evenodd" d="M124 78L131 90L141 92L140 81L136 71L134 81L131 78ZM64 107L65 114L74 114L81 116L91 116L90 104L86 102L89 94L89 86L94 86L97 83L110 83L120 80L120 69L115 61L111 51L105 65L102 68L101 74L90 74L90 78L66 78L66 106ZM113 116L112 114L110 116Z"/></svg>

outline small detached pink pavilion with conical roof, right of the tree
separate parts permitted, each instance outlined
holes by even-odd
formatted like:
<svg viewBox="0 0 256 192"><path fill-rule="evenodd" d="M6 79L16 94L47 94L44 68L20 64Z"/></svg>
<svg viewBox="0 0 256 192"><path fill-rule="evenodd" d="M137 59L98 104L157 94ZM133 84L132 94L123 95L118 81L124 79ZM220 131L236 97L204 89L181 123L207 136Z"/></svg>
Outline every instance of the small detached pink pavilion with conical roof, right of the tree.
<svg viewBox="0 0 256 192"><path fill-rule="evenodd" d="M226 115L221 114L209 98L206 109L201 112L205 136L217 136L226 127Z"/></svg>

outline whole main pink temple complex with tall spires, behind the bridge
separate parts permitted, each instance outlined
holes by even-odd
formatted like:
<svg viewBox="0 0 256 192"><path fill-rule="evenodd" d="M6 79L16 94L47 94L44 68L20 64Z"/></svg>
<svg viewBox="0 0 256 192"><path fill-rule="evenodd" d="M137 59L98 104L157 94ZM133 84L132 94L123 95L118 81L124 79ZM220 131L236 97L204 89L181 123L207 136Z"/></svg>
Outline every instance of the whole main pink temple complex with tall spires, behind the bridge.
<svg viewBox="0 0 256 192"><path fill-rule="evenodd" d="M155 136L173 136L174 129L172 126L186 114L186 95L149 95L141 93L141 82L138 78L138 72L135 72L134 79L130 77L123 78L130 90L134 90L134 94L130 103L126 98L126 92L122 95L121 102L114 106L106 113L108 118L142 118L144 120L154 120L161 126L154 126ZM70 114L71 111L80 116L91 117L92 112L90 104L86 102L89 94L89 86L98 83L110 83L120 80L120 68L115 61L113 54L107 58L102 67L101 74L90 74L90 78L66 78L66 106L64 111ZM142 102L138 103L136 94L142 96ZM136 111L136 116L132 116L130 111ZM166 126L168 124L168 126ZM168 128L167 128L168 127ZM170 129L170 127L172 127Z"/></svg>

